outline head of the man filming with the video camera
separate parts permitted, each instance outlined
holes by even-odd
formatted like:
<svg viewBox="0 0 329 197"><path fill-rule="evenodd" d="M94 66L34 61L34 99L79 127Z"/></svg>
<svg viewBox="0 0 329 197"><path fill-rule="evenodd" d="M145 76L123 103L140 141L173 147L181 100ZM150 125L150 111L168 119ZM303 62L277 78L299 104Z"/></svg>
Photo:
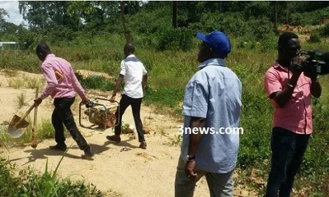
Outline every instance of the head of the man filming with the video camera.
<svg viewBox="0 0 329 197"><path fill-rule="evenodd" d="M278 40L278 60L291 62L300 52L300 40L292 32L284 32ZM288 63L287 63L288 64Z"/></svg>

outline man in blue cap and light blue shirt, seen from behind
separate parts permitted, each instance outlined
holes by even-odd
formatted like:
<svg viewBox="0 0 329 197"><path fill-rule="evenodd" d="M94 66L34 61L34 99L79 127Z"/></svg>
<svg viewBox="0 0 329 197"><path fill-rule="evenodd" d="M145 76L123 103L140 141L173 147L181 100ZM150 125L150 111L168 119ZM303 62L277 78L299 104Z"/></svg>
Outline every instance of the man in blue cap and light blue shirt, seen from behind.
<svg viewBox="0 0 329 197"><path fill-rule="evenodd" d="M210 196L233 196L239 131L232 131L239 127L241 82L223 60L231 51L228 36L213 31L197 38L203 41L197 56L201 64L185 88L175 196L193 196L202 176Z"/></svg>

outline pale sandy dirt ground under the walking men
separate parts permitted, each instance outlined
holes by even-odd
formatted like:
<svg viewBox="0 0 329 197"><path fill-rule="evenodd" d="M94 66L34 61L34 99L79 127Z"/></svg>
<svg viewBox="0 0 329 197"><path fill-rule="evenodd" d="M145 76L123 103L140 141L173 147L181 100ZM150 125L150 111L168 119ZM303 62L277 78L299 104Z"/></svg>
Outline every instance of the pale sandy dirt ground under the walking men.
<svg viewBox="0 0 329 197"><path fill-rule="evenodd" d="M86 71L85 71L86 73ZM88 72L87 72L88 73ZM89 72L90 73L90 72ZM23 115L29 106L33 104L35 90L29 88L14 89L10 83L14 80L40 79L42 75L24 73L21 71L8 73L0 71L0 123L3 127L10 122L14 114ZM12 85L11 85L12 86ZM22 85L23 86L23 85ZM41 91L41 90L40 90ZM19 108L19 95L25 94L27 105ZM95 97L109 97L111 92L100 92L88 90L86 92L90 99ZM117 98L119 101L119 96ZM59 168L59 175L62 178L72 175L72 179L84 179L86 183L93 183L107 196L173 196L175 170L180 155L180 146L173 145L178 136L178 126L182 124L178 120L158 114L149 106L142 105L141 118L149 134L145 135L147 149L138 148L138 140L135 134L121 135L121 143L115 144L106 140L106 135L113 135L112 129L106 131L93 131L80 127L79 117L80 98L76 99L73 109L75 121L80 131L86 137L86 141L95 151L93 160L82 159L82 150L71 137L66 138L66 145L69 146ZM47 98L38 107L38 125L42 121L51 119L53 110L52 99ZM34 112L29 114L32 124ZM83 117L84 124L88 121ZM123 123L134 126L131 107L128 107L123 116ZM38 130L38 128L36 129ZM29 131L25 131L29 132ZM56 168L60 161L61 152L49 150L49 146L56 142L51 140L38 140L38 146L32 148L29 144L17 146L8 144L9 152L3 146L0 147L0 157L16 163L18 168L32 166L38 172L45 170L48 159L49 167ZM246 189L239 189L236 186L234 196L255 196ZM209 196L206 179L201 179L197 183L195 196Z"/></svg>

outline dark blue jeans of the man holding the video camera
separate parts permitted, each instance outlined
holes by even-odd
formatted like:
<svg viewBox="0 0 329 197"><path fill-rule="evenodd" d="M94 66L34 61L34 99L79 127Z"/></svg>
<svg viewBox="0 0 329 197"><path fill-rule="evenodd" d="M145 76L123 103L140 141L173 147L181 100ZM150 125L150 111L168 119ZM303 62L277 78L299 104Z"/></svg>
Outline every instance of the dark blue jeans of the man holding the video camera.
<svg viewBox="0 0 329 197"><path fill-rule="evenodd" d="M267 197L290 196L293 180L300 169L309 137L310 135L293 133L280 127L273 128Z"/></svg>

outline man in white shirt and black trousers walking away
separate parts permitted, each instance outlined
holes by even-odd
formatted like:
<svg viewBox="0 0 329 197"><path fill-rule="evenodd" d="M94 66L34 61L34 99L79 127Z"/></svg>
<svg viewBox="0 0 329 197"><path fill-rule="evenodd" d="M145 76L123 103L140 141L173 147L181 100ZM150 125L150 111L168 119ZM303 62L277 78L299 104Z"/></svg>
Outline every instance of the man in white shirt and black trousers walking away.
<svg viewBox="0 0 329 197"><path fill-rule="evenodd" d="M121 68L119 77L115 83L112 97L110 101L114 102L117 92L121 88L123 79L125 80L125 88L122 92L120 100L120 117L118 117L118 111L116 113L117 121L119 124L114 128L115 135L108 135L106 138L113 142L121 142L121 123L122 116L125 113L125 109L132 105L132 115L136 125L138 133L138 141L141 142L140 148L146 149L146 142L144 138L143 124L141 121L141 103L144 96L144 90L147 82L147 71L143 63L134 55L134 45L131 43L125 44L123 52L125 59L121 61Z"/></svg>

